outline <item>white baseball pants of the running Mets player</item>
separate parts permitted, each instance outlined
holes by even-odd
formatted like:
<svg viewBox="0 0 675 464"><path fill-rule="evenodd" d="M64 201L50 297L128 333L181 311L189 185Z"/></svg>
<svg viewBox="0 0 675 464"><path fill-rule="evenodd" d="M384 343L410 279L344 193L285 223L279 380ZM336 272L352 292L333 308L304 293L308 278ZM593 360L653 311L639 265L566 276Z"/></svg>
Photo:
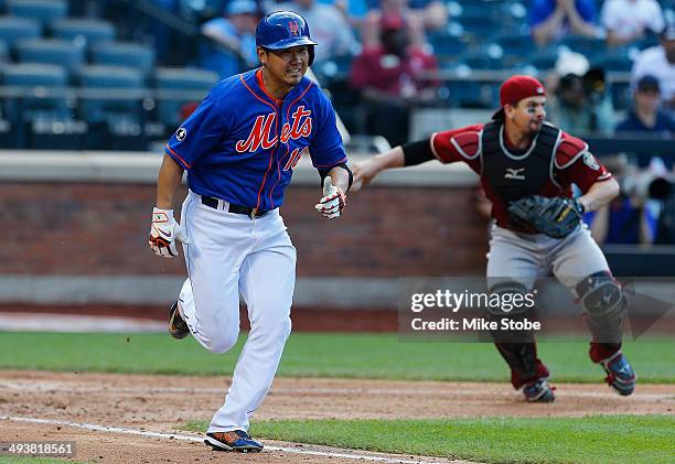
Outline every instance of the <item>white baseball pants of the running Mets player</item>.
<svg viewBox="0 0 675 464"><path fill-rule="evenodd" d="M247 431L291 331L296 248L278 209L251 219L205 206L191 192L182 213L181 224L191 239L183 246L190 278L179 305L190 332L212 353L232 348L239 334L239 292L250 321L225 403L207 432Z"/></svg>

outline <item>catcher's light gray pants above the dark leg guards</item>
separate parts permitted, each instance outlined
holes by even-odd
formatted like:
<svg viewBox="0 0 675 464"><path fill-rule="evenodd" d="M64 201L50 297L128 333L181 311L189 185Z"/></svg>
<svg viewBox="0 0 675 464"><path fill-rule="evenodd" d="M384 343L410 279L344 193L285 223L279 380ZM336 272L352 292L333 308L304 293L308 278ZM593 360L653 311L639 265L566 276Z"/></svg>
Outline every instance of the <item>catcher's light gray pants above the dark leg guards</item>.
<svg viewBox="0 0 675 464"><path fill-rule="evenodd" d="M521 234L492 227L488 253L488 288L518 282L532 290L538 277L554 276L576 294L587 276L609 272L607 259L586 224L565 238L544 234ZM577 295L578 296L578 295Z"/></svg>

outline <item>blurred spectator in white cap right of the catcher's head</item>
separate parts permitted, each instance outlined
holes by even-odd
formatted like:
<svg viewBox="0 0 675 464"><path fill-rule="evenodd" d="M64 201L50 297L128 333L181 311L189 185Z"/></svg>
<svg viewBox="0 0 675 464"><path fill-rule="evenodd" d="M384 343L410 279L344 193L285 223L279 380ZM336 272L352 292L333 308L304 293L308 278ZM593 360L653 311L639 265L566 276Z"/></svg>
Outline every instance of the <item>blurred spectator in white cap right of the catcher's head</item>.
<svg viewBox="0 0 675 464"><path fill-rule="evenodd" d="M576 52L561 52L556 62L558 82L551 82L549 119L575 133L611 134L614 130L614 108L607 91L604 73L590 68L588 60Z"/></svg>

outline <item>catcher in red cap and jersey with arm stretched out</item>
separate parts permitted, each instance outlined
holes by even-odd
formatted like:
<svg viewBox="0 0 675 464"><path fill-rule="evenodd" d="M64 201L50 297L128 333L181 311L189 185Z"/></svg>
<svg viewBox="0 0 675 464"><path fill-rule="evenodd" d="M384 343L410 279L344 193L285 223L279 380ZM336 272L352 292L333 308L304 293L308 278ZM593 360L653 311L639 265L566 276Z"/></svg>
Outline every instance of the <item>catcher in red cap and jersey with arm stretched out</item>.
<svg viewBox="0 0 675 464"><path fill-rule="evenodd" d="M492 202L494 225L488 255L492 293L526 293L537 276L553 272L578 296L592 335L589 355L622 396L635 389L635 374L621 353L628 301L607 260L581 222L619 194L612 175L588 145L545 121L546 90L529 76L513 76L500 88L501 109L485 125L437 132L354 166L354 186L366 186L379 172L438 159L465 162L480 175ZM582 191L572 197L571 184ZM513 310L508 316L517 316ZM505 316L495 311L492 316ZM495 337L511 368L511 382L527 401L554 401L546 365L537 357L534 334L518 342Z"/></svg>

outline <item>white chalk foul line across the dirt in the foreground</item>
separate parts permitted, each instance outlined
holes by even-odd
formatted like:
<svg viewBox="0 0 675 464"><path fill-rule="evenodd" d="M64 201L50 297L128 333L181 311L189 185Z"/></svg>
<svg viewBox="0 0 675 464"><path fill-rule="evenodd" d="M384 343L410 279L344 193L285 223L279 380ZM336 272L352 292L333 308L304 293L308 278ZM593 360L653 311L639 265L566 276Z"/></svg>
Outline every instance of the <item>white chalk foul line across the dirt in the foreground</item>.
<svg viewBox="0 0 675 464"><path fill-rule="evenodd" d="M199 442L199 443L204 441L204 439L199 438L199 436L181 435L178 433L153 432L151 430L127 429L122 427L108 427L108 425L99 425L95 423L68 422L68 421L60 421L60 420L53 420L53 419L22 418L22 417L17 417L17 416L0 416L0 420L8 420L8 421L15 421L15 422L30 422L30 423L46 423L51 425L66 425L66 427L75 427L78 429L92 430L95 432L125 433L128 435L142 435L142 436L153 436L153 438L160 438L160 439L184 440L189 442ZM296 449L286 447L286 446L265 445L265 450L280 451L282 453L307 454L310 456L342 457L346 460L369 461L374 463L386 463L386 464L442 464L440 462L433 462L433 461L414 461L414 460L404 460L404 458L396 458L396 457L369 456L369 455L363 455L363 454L334 453L334 452L328 452L328 451L296 450Z"/></svg>

